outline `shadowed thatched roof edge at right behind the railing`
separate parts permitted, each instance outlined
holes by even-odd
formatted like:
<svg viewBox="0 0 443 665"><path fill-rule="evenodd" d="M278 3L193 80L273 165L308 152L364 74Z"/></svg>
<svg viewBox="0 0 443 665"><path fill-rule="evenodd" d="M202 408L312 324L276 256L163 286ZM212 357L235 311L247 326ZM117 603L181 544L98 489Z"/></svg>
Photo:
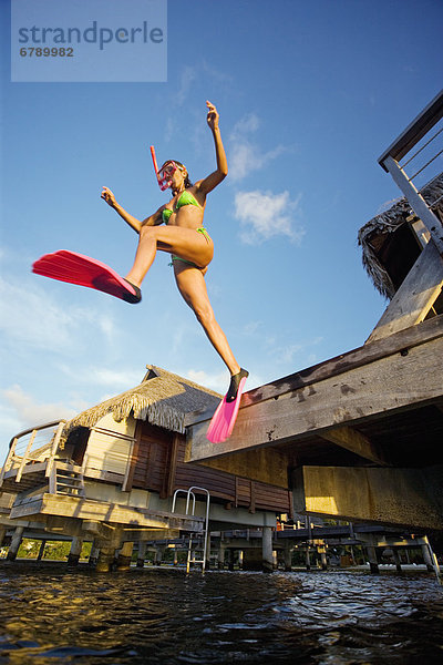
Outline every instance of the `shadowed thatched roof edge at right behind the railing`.
<svg viewBox="0 0 443 665"><path fill-rule="evenodd" d="M443 173L423 187L422 195L436 216L443 221ZM359 231L358 241L362 247L363 266L374 287L387 298L392 298L396 289L391 278L392 275L389 274L388 266L383 265L380 259L380 252L377 252L375 246L381 245L381 236L393 234L400 226L406 224L406 218L411 214L411 205L403 196L389 209L370 219Z"/></svg>

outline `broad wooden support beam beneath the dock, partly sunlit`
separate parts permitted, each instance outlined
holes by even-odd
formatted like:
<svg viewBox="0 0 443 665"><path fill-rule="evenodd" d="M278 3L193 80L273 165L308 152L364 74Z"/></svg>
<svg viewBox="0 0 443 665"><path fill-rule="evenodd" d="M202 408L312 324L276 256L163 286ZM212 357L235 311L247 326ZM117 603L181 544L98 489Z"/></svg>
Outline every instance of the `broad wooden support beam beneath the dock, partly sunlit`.
<svg viewBox="0 0 443 665"><path fill-rule="evenodd" d="M426 469L303 467L292 479L295 511L442 530L443 488L431 480Z"/></svg>

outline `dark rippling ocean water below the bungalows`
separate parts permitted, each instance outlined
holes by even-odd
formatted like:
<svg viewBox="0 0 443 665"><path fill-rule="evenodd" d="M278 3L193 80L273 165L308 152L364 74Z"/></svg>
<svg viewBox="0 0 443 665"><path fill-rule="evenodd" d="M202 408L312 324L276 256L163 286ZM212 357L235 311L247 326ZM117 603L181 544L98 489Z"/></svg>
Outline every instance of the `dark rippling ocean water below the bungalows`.
<svg viewBox="0 0 443 665"><path fill-rule="evenodd" d="M0 664L443 662L433 575L0 564Z"/></svg>

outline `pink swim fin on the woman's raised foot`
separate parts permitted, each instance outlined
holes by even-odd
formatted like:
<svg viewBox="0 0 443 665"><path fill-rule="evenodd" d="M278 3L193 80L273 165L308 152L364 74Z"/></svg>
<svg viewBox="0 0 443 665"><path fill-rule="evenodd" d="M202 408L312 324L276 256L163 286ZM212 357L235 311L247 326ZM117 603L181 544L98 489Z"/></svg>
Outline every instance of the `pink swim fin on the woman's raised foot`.
<svg viewBox="0 0 443 665"><path fill-rule="evenodd" d="M95 288L126 303L135 304L142 299L140 288L106 264L68 249L45 254L33 264L32 272L60 282Z"/></svg>

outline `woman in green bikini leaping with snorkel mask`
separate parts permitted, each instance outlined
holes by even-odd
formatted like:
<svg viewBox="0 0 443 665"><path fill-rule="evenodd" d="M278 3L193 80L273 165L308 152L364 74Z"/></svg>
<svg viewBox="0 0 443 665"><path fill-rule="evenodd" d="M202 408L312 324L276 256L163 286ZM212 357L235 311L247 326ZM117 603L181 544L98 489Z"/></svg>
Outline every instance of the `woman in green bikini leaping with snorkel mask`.
<svg viewBox="0 0 443 665"><path fill-rule="evenodd" d="M213 239L203 226L206 196L225 180L228 173L218 127L219 115L214 104L206 102L206 105L207 123L215 143L216 171L193 185L186 167L181 162L173 160L165 162L158 174L167 182L173 198L143 222L130 215L115 201L114 194L107 187L103 187L102 198L140 236L134 265L124 278L134 295L127 293L124 299L140 303L142 299L140 287L154 262L157 249L169 253L179 293L193 309L209 341L230 372L226 401L234 401L240 380L247 377L248 372L238 365L224 331L215 319L205 284L205 274L214 255Z"/></svg>

